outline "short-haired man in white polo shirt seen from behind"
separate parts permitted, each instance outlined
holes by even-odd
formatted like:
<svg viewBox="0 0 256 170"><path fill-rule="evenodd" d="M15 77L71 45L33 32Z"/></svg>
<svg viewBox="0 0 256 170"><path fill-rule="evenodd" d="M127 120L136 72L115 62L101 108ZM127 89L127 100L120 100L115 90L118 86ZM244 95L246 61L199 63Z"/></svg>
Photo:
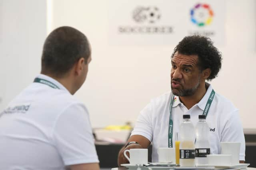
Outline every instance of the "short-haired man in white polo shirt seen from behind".
<svg viewBox="0 0 256 170"><path fill-rule="evenodd" d="M0 115L0 169L99 170L88 110L73 96L90 61L77 29L48 35L41 74Z"/></svg>

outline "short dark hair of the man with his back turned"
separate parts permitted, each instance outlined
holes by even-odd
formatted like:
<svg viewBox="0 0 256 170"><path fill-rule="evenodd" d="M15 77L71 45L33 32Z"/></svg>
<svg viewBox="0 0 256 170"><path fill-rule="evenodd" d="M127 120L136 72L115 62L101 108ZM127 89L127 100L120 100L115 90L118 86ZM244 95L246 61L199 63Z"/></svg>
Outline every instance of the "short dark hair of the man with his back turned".
<svg viewBox="0 0 256 170"><path fill-rule="evenodd" d="M90 55L88 39L82 32L68 26L58 27L44 42L41 73L62 77L80 58L86 63Z"/></svg>

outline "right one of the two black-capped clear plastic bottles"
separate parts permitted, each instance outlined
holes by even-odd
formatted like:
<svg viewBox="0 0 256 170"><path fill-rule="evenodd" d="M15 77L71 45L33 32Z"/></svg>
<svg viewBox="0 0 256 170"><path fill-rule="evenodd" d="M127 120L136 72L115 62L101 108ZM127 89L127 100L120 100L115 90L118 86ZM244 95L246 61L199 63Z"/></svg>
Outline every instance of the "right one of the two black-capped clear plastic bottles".
<svg viewBox="0 0 256 170"><path fill-rule="evenodd" d="M209 126L206 123L206 116L199 115L196 124L196 165L208 164L207 154L210 154Z"/></svg>

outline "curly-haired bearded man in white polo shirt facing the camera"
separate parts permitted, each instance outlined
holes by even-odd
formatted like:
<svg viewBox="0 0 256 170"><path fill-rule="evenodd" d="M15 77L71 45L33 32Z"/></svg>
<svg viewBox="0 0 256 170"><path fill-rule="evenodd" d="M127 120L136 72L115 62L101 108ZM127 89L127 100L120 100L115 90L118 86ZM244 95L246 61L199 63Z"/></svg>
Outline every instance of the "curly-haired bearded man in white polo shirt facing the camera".
<svg viewBox="0 0 256 170"><path fill-rule="evenodd" d="M206 82L216 78L221 61L221 53L207 37L188 36L178 43L171 56L171 92L151 100L142 109L130 138L119 152L119 165L128 162L124 150L148 148L150 143L152 162L158 162L159 147L174 147L182 115L190 115L194 125L198 115L206 115L210 153L220 154L220 142L240 142L239 158L244 162L245 140L238 109Z"/></svg>

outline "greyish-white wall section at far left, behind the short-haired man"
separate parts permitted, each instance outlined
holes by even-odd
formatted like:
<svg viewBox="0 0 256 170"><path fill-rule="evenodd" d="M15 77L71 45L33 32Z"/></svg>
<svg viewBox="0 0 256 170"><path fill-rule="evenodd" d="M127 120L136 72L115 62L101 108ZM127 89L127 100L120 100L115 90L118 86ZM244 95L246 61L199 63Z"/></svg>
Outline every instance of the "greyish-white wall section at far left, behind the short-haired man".
<svg viewBox="0 0 256 170"><path fill-rule="evenodd" d="M40 72L44 0L0 0L0 110Z"/></svg>

